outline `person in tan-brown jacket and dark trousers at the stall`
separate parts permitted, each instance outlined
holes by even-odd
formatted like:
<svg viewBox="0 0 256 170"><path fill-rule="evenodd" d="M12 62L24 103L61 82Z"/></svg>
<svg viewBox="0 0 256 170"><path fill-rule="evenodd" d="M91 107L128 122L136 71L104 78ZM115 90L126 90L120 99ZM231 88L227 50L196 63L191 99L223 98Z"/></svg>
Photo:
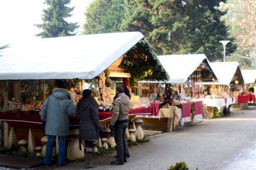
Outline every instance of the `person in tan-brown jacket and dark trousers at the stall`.
<svg viewBox="0 0 256 170"><path fill-rule="evenodd" d="M111 162L113 165L122 165L127 162L126 159L126 140L125 133L128 126L129 110L131 102L129 97L124 93L124 88L119 86L116 88L116 96L113 102L113 111L109 128L114 131L117 159Z"/></svg>

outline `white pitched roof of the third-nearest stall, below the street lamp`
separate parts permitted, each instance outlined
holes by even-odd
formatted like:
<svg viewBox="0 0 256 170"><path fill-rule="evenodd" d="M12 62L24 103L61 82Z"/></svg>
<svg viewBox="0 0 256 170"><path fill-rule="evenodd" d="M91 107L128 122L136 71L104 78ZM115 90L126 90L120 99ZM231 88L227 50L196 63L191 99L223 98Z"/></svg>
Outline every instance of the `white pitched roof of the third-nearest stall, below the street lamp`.
<svg viewBox="0 0 256 170"><path fill-rule="evenodd" d="M202 82L203 85L229 85L231 82L244 83L238 62L210 62L213 72L218 77L218 82Z"/></svg>

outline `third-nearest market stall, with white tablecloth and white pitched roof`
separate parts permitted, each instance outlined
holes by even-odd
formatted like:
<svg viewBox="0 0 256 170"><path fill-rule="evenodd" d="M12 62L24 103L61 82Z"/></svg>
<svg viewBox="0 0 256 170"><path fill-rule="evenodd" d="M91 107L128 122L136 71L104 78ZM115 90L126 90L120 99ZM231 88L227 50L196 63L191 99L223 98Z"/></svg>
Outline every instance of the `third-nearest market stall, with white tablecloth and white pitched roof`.
<svg viewBox="0 0 256 170"><path fill-rule="evenodd" d="M248 108L247 97L243 91L244 79L238 62L211 62L212 70L218 77L218 82L202 82L201 86L210 85L209 93L200 100L208 107L208 116L212 117L212 109L216 107L223 111L230 105L233 108ZM207 92L207 91L206 91Z"/></svg>

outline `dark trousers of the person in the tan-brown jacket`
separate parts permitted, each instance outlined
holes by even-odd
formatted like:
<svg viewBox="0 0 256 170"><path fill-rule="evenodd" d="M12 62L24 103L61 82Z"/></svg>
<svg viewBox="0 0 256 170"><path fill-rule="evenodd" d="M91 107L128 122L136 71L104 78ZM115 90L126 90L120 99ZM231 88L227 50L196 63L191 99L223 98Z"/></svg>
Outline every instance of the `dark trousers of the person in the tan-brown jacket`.
<svg viewBox="0 0 256 170"><path fill-rule="evenodd" d="M115 124L115 142L117 151L117 161L124 161L126 159L127 142L125 140L127 123L116 123Z"/></svg>

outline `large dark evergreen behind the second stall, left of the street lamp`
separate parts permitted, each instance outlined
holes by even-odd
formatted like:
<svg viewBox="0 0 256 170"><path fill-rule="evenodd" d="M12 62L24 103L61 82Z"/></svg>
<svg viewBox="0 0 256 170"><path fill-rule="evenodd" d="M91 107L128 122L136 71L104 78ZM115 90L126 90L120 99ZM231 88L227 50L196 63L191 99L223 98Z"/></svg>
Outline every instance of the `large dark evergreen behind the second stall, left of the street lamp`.
<svg viewBox="0 0 256 170"><path fill-rule="evenodd" d="M221 1L225 0L125 0L122 30L141 31L146 36L149 32L147 39L157 54L204 53L210 61L222 59L219 41L234 39L228 38L228 29L220 20L225 12L215 8ZM235 49L229 43L227 55Z"/></svg>

